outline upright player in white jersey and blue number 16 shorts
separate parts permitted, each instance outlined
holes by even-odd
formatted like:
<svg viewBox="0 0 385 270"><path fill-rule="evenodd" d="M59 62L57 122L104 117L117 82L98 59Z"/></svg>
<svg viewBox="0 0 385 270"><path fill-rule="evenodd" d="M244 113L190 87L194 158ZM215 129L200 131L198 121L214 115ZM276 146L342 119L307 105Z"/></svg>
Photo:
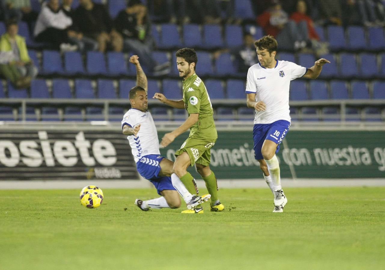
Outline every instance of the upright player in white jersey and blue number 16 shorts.
<svg viewBox="0 0 385 270"><path fill-rule="evenodd" d="M275 60L278 43L270 35L255 41L254 45L259 63L249 68L246 82L246 104L255 109L254 156L273 192L273 212L283 212L287 199L281 187L280 165L275 154L290 127L290 81L302 76L316 79L322 66L330 62L321 58L311 68L305 68Z"/></svg>

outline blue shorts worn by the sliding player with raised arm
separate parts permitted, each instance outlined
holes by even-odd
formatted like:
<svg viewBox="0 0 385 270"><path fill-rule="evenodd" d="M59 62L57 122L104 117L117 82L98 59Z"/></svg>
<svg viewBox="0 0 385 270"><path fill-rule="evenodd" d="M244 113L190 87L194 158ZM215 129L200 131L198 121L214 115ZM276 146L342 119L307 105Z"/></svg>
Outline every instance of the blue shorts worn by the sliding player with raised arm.
<svg viewBox="0 0 385 270"><path fill-rule="evenodd" d="M162 190L176 190L171 183L171 177L158 176L161 171L159 163L164 157L159 155L147 155L143 156L138 162L136 162L136 169L139 174L149 180L154 186L159 195Z"/></svg>

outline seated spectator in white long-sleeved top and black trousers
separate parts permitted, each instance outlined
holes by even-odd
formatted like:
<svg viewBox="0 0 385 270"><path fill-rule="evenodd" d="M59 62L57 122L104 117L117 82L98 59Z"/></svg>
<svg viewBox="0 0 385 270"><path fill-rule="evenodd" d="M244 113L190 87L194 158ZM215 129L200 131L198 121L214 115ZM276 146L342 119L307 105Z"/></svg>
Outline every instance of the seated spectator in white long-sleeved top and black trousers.
<svg viewBox="0 0 385 270"><path fill-rule="evenodd" d="M43 3L33 34L36 41L50 43L56 50L74 51L77 46L70 44L68 33L71 25L72 19L60 9L59 0L49 0Z"/></svg>

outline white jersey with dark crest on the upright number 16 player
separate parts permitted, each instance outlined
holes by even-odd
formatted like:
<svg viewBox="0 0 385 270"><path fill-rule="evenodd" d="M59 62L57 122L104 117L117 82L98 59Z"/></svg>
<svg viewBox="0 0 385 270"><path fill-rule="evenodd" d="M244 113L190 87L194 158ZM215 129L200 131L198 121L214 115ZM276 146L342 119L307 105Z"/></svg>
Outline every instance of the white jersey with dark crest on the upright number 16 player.
<svg viewBox="0 0 385 270"><path fill-rule="evenodd" d="M247 73L246 93L255 93L255 101L263 101L266 111L255 110L254 124L270 124L291 120L289 111L290 81L305 75L307 68L288 61L278 61L274 68L259 63Z"/></svg>

